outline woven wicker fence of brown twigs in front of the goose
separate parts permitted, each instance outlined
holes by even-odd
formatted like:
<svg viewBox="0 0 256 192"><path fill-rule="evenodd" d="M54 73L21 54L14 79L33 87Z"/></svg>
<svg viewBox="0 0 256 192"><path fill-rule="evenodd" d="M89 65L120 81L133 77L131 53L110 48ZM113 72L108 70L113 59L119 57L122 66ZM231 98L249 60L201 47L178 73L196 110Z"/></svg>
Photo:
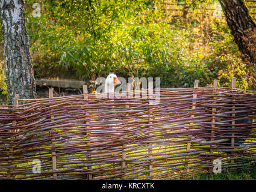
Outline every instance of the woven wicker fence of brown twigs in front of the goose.
<svg viewBox="0 0 256 192"><path fill-rule="evenodd" d="M151 85L152 86L152 85ZM160 89L87 94L0 108L1 179L172 179L255 161L256 92ZM127 94L127 95L126 95ZM149 105L154 97L159 104ZM10 106L9 106L10 108ZM36 167L35 167L36 166Z"/></svg>

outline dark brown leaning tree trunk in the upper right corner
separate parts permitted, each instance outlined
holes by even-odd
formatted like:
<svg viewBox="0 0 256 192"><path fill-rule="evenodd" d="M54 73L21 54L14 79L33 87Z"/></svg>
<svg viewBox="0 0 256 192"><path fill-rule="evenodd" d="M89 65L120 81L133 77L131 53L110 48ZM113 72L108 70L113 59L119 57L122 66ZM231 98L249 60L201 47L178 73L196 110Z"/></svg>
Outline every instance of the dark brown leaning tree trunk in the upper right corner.
<svg viewBox="0 0 256 192"><path fill-rule="evenodd" d="M231 34L242 52L243 59L256 64L256 40L253 31L256 23L249 14L244 0L219 0Z"/></svg>

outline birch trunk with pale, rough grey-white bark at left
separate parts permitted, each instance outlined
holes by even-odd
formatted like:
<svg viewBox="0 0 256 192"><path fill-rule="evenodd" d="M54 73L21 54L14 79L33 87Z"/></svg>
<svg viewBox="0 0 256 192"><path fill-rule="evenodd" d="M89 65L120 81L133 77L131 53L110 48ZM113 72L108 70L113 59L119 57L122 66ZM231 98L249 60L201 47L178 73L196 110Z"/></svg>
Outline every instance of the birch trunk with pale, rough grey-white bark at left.
<svg viewBox="0 0 256 192"><path fill-rule="evenodd" d="M9 104L19 98L36 98L36 84L25 26L23 0L0 0Z"/></svg>

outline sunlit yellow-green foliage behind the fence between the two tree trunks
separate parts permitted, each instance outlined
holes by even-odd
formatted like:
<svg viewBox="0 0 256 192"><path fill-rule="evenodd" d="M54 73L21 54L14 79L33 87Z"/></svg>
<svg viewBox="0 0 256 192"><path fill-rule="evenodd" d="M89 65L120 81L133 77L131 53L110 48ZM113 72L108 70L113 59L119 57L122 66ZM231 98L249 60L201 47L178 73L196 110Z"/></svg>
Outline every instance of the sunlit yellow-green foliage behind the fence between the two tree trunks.
<svg viewBox="0 0 256 192"><path fill-rule="evenodd" d="M200 86L214 79L249 89L247 68L225 19L205 13L208 0L186 1L190 14L170 17L161 0L25 2L36 77L95 82L114 72L122 77L161 77L161 87ZM180 1L183 2L183 1ZM2 90L5 90L2 88Z"/></svg>

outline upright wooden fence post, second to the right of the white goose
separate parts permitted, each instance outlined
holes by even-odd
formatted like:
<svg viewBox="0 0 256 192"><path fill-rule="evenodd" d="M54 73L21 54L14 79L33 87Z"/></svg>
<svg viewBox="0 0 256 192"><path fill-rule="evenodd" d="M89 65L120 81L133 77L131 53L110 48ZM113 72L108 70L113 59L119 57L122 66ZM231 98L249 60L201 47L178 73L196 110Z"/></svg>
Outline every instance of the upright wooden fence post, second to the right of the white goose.
<svg viewBox="0 0 256 192"><path fill-rule="evenodd" d="M153 82L149 81L148 82L148 98L151 98L150 95L152 95L152 94L153 94ZM148 105L149 104L150 104L150 100L149 100ZM152 109L152 108L149 106L148 109L149 109L149 115L148 115L149 116L149 118L148 118L148 120L149 120L149 126L148 126L149 129L148 130L151 130L151 128L152 128L151 124L152 124L152 119L153 118L152 118L152 112L150 112L150 109ZM152 136L152 133L149 133L148 136L149 136L149 139L150 139L150 137ZM149 143L149 146L152 147L151 143ZM152 154L152 148L148 149L148 153ZM149 155L148 157L151 158L152 155ZM152 170L153 170L153 165L149 164L149 178L151 178L151 176L153 176Z"/></svg>

